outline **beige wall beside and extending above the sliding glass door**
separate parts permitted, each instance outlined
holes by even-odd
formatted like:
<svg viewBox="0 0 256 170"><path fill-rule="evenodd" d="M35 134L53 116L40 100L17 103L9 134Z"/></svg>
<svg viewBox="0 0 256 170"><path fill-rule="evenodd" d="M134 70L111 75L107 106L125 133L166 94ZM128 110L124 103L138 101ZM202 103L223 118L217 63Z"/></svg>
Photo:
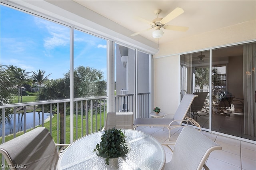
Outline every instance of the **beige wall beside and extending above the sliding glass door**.
<svg viewBox="0 0 256 170"><path fill-rule="evenodd" d="M153 56L154 107L161 107L161 111L165 113L174 113L178 107L180 99L179 53L252 40L256 40L255 20L160 44L159 52Z"/></svg>

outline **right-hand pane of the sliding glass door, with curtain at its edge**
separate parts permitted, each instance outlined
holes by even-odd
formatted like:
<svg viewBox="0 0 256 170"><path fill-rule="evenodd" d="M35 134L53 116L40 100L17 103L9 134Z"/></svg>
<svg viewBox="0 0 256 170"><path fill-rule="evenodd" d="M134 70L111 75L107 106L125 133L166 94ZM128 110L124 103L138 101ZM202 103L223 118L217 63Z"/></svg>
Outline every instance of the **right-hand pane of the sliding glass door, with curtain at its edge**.
<svg viewBox="0 0 256 170"><path fill-rule="evenodd" d="M212 130L256 140L256 43L212 50Z"/></svg>

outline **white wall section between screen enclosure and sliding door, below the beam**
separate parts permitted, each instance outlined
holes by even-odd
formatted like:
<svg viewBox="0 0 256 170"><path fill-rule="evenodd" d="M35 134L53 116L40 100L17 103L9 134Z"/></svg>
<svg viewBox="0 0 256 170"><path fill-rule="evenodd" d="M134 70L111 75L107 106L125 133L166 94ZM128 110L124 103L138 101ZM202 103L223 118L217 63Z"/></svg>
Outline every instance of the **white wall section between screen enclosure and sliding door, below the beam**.
<svg viewBox="0 0 256 170"><path fill-rule="evenodd" d="M154 105L174 114L180 101L180 59L178 55L154 59Z"/></svg>

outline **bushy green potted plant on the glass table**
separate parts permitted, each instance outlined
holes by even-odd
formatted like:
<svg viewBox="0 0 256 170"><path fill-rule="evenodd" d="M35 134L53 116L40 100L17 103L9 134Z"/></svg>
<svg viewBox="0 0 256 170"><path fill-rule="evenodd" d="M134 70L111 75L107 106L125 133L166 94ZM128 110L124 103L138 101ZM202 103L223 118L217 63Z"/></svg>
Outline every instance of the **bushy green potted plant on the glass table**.
<svg viewBox="0 0 256 170"><path fill-rule="evenodd" d="M125 140L124 132L115 127L104 131L101 141L96 144L93 152L99 156L106 158L105 164L109 164L110 158L118 158L124 156L130 151L130 144Z"/></svg>

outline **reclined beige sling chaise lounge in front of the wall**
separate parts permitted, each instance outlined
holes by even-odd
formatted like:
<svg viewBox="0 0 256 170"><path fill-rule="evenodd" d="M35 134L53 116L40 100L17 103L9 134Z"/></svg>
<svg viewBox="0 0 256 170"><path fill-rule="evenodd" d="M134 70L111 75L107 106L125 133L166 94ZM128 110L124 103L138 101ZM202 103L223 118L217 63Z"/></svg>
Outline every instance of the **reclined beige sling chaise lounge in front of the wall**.
<svg viewBox="0 0 256 170"><path fill-rule="evenodd" d="M188 113L188 109L190 108L190 105L194 98L197 97L197 95L192 94L186 94L182 98L180 105L178 106L178 109L176 110L174 116L172 119L167 118L171 114L166 114L164 117L161 118L137 118L134 121L134 129L138 126L154 126L154 127L167 127L169 130L169 138L171 136L171 130L173 128L177 127L184 127L182 126L182 122L186 122L188 125L188 122L190 122L192 125L197 126L199 130L201 130L201 127L199 123L197 123L194 119L186 117L186 113Z"/></svg>

